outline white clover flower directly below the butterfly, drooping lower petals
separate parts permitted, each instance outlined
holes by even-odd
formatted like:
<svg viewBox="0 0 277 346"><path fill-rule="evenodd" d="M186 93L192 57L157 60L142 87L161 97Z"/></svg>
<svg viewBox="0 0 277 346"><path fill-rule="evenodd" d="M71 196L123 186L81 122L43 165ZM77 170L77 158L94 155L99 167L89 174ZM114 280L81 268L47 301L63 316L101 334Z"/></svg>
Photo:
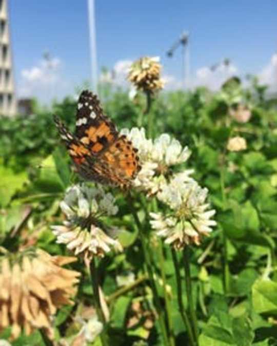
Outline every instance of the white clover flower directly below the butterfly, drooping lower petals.
<svg viewBox="0 0 277 346"><path fill-rule="evenodd" d="M63 225L51 227L57 243L66 244L75 255L84 253L88 257L103 257L111 249L122 251L120 242L110 236L116 229L108 229L101 222L103 216L117 213L114 202L113 196L102 187L85 184L70 187L60 204L67 220Z"/></svg>

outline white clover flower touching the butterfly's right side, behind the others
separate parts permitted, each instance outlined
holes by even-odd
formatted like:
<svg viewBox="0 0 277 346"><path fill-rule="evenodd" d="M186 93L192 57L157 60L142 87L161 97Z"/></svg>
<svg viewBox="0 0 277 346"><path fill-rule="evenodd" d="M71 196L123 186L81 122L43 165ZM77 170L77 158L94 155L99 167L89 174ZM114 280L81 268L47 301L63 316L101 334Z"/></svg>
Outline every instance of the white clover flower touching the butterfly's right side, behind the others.
<svg viewBox="0 0 277 346"><path fill-rule="evenodd" d="M146 138L144 128L123 129L121 133L132 141L140 157L142 168L134 180L134 186L147 191L148 195L158 193L167 183L170 167L186 162L190 156L188 147L182 148L180 142L171 139L167 133L154 141ZM183 174L188 177L192 172L185 170Z"/></svg>

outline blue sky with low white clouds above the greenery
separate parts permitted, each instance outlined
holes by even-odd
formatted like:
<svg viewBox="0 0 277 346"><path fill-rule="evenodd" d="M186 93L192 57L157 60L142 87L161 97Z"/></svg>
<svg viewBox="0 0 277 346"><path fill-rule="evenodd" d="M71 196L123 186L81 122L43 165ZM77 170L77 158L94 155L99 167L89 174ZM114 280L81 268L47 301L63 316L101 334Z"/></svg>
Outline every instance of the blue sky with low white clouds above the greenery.
<svg viewBox="0 0 277 346"><path fill-rule="evenodd" d="M9 10L19 94L47 101L90 78L87 0L10 1ZM159 55L164 73L180 81L181 50L172 59L165 52L183 30L190 33L191 75L225 57L240 74L260 73L277 51L275 0L95 0L95 13L99 69ZM48 72L39 74L46 50L57 62L56 78L34 87L28 73L47 80Z"/></svg>

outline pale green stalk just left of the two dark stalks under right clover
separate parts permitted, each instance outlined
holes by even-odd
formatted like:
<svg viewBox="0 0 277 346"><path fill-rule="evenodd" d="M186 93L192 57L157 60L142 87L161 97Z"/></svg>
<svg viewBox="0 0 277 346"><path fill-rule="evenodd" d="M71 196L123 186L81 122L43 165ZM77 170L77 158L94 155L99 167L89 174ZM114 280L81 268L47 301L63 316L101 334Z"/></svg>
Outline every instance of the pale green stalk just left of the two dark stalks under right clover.
<svg viewBox="0 0 277 346"><path fill-rule="evenodd" d="M161 241L159 241L159 259L160 259L160 267L161 267L161 274L162 274L162 281L163 281L163 288L164 288L165 306L166 306L166 312L167 312L167 318L168 318L168 338L169 338L170 345L174 346L175 340L174 340L174 331L173 331L172 316L171 316L172 309L170 304L170 298L166 290L165 258L163 253L163 244Z"/></svg>

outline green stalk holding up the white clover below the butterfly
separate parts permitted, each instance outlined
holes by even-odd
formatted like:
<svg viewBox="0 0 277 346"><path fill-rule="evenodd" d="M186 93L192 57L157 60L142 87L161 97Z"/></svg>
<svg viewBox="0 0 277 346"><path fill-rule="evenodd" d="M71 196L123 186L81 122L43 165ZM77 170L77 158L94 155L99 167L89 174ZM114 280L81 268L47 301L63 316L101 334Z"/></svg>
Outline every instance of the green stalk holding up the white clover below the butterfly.
<svg viewBox="0 0 277 346"><path fill-rule="evenodd" d="M89 274L90 274L92 290L93 290L94 306L96 309L97 317L103 324L103 331L100 334L101 343L102 343L102 346L109 346L109 339L106 333L106 319L105 319L104 313L101 308L101 303L100 303L99 282L98 282L98 275L97 275L97 269L96 269L94 258L92 258L90 262L89 272L90 272Z"/></svg>

